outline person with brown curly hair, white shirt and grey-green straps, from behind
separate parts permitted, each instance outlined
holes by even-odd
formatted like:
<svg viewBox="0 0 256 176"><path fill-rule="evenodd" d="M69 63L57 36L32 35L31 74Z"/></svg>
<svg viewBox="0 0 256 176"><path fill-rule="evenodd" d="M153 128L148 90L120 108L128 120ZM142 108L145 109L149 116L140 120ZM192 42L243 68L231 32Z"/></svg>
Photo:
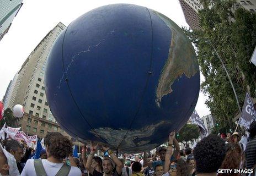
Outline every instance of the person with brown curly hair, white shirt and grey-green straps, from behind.
<svg viewBox="0 0 256 176"><path fill-rule="evenodd" d="M26 162L22 176L36 175L81 175L77 167L63 164L64 158L72 153L72 142L60 133L47 133L45 137L47 159L33 160Z"/></svg>

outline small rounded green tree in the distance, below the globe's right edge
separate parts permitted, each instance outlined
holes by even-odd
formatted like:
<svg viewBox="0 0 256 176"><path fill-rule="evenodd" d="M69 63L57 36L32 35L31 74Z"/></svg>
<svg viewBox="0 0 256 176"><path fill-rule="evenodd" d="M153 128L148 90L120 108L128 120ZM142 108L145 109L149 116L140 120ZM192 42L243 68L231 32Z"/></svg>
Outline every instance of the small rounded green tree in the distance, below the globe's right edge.
<svg viewBox="0 0 256 176"><path fill-rule="evenodd" d="M184 147L188 147L188 141L194 142L198 139L200 133L197 125L185 124L184 127L179 131L177 140L182 142Z"/></svg>

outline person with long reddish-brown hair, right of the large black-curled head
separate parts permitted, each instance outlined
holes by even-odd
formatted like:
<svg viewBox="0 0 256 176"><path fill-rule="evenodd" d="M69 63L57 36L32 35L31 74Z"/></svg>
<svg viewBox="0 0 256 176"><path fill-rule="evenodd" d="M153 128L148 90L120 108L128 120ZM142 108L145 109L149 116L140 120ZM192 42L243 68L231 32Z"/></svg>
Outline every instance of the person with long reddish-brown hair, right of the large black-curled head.
<svg viewBox="0 0 256 176"><path fill-rule="evenodd" d="M239 169L242 160L242 150L238 144L228 143L226 145L226 156L221 164L220 169ZM237 173L219 173L218 176L222 175L234 175L238 176Z"/></svg>

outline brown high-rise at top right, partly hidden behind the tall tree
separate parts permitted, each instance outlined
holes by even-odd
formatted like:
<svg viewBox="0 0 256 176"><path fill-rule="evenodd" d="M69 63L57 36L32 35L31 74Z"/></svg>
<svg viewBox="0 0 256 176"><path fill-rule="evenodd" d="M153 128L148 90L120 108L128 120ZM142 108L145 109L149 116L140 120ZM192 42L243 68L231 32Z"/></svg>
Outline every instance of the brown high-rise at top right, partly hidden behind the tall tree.
<svg viewBox="0 0 256 176"><path fill-rule="evenodd" d="M186 23L188 23L191 29L200 29L198 11L203 8L200 0L179 0L179 2L186 19ZM241 4L242 7L251 12L256 12L256 0L237 0L237 3Z"/></svg>

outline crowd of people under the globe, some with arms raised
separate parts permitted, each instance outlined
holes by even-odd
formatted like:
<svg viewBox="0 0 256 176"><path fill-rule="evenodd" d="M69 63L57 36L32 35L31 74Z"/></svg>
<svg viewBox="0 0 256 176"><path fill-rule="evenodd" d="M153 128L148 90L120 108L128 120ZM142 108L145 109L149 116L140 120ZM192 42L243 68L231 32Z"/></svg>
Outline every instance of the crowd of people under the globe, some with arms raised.
<svg viewBox="0 0 256 176"><path fill-rule="evenodd" d="M191 175L255 175L256 122L252 122L246 134L212 135L203 138L194 149L179 149L169 134L167 147L157 149L156 154L119 155L107 146L90 144L83 146L79 158L72 157L72 142L60 133L48 133L46 149L40 159L31 159L32 149L14 139L2 142L0 150L0 175L85 175L85 176L191 176ZM244 137L244 138L243 138ZM100 149L104 156L97 156ZM217 173L218 169L254 169L254 173Z"/></svg>

